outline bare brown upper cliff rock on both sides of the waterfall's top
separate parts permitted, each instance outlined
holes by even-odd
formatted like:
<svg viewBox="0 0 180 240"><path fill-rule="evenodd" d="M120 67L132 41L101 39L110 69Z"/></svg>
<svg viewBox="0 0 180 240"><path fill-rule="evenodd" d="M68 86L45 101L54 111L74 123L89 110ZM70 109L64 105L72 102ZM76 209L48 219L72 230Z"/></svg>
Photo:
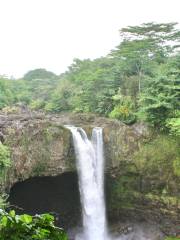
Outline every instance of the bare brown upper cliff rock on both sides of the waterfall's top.
<svg viewBox="0 0 180 240"><path fill-rule="evenodd" d="M66 124L84 128L89 136L93 127L103 127L107 169L118 167L121 160L130 160L148 136L143 126L128 127L94 115L0 115L1 140L11 149L8 188L33 176L55 176L75 170L72 137Z"/></svg>

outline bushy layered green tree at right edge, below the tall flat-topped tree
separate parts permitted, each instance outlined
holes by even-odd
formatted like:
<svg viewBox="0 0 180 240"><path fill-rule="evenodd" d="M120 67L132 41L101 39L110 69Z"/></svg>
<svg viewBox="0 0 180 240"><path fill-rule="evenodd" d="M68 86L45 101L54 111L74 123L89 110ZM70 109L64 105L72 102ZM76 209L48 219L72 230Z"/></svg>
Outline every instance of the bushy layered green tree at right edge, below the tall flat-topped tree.
<svg viewBox="0 0 180 240"><path fill-rule="evenodd" d="M139 116L161 130L166 120L173 118L178 108L178 91L172 78L157 74L147 79L146 88L140 95Z"/></svg>

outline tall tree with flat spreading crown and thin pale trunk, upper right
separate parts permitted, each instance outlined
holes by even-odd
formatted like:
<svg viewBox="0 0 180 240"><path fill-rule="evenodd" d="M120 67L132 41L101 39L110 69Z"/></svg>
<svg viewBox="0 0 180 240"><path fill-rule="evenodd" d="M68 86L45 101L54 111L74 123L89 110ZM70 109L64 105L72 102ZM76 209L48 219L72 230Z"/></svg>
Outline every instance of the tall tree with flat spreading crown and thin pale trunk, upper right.
<svg viewBox="0 0 180 240"><path fill-rule="evenodd" d="M180 47L180 31L177 23L145 23L120 30L122 42L111 52L120 64L124 76L138 76L138 89L144 75L152 75L155 65L164 63L167 57Z"/></svg>

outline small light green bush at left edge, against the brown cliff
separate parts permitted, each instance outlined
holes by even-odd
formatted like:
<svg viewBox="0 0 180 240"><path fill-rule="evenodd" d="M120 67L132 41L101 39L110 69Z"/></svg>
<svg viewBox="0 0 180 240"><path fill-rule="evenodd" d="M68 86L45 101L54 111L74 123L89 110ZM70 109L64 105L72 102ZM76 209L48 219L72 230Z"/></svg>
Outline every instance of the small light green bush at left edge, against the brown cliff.
<svg viewBox="0 0 180 240"><path fill-rule="evenodd" d="M0 177L4 171L11 166L10 150L0 142Z"/></svg>

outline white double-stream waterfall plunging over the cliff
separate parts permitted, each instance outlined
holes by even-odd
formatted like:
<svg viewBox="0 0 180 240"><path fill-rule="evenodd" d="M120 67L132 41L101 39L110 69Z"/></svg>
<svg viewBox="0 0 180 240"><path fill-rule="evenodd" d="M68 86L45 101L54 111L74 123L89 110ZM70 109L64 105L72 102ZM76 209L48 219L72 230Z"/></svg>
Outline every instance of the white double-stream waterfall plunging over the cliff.
<svg viewBox="0 0 180 240"><path fill-rule="evenodd" d="M91 140L82 128L67 128L73 136L83 215L83 234L76 240L107 240L102 128L93 129Z"/></svg>

